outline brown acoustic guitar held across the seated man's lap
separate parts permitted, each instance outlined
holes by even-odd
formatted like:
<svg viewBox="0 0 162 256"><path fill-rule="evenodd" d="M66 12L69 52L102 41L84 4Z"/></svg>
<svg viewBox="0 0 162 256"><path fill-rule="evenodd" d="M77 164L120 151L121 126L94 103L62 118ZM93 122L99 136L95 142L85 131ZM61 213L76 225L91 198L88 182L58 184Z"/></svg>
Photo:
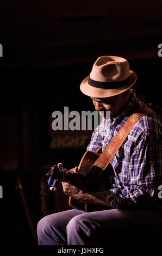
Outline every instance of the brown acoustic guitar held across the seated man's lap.
<svg viewBox="0 0 162 256"><path fill-rule="evenodd" d="M60 185L61 181L70 182L71 185L83 190L83 187L80 187L78 182L78 180L81 180L87 192L104 191L106 186L105 176L107 170L103 171L99 166L93 166L94 162L100 155L99 151L101 151L101 148L99 148L95 153L91 151L85 152L78 166L78 174L74 173L72 170L66 170L63 167L63 164L61 164L61 166L59 165L59 167L54 165L46 174L51 174L48 179L50 190L55 190L55 187ZM72 208L86 212L109 209L107 206L85 204L81 200L73 197L69 197L68 204Z"/></svg>

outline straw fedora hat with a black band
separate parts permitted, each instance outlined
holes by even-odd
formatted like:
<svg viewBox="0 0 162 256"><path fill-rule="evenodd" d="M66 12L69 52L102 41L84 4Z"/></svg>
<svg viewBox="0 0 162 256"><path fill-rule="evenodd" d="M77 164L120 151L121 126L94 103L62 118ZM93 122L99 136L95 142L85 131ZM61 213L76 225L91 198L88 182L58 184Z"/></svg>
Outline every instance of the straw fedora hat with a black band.
<svg viewBox="0 0 162 256"><path fill-rule="evenodd" d="M111 97L128 90L135 81L136 74L129 69L127 59L101 56L80 84L80 90L91 97Z"/></svg>

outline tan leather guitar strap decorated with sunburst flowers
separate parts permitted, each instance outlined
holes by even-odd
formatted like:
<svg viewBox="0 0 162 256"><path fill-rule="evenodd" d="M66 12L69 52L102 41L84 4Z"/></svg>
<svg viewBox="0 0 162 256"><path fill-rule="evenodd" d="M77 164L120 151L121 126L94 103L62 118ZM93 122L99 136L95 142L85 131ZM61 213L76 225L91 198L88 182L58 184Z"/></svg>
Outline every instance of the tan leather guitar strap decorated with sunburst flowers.
<svg viewBox="0 0 162 256"><path fill-rule="evenodd" d="M147 106L140 107L137 112L130 115L130 117L125 121L120 130L116 133L113 139L111 139L110 143L98 157L98 159L94 162L93 166L97 166L102 170L107 168L108 164L111 162L122 143L125 141L129 132L132 130L135 123L146 114L155 114L151 108ZM98 151L98 150L97 150Z"/></svg>

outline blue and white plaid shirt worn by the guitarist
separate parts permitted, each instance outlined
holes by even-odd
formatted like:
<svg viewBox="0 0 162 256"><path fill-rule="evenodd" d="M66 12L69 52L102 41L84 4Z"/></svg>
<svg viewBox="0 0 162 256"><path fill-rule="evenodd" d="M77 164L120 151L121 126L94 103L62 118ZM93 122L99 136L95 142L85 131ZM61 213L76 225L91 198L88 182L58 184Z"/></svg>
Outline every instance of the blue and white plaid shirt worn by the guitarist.
<svg viewBox="0 0 162 256"><path fill-rule="evenodd" d="M145 105L136 97L134 90L129 89L129 93L129 102L110 123L110 132L102 136L103 125L106 127L106 120L103 119L92 133L87 150L95 152L99 147L104 150L135 109ZM157 115L144 115L111 160L113 172L108 178L110 187L104 191L104 197L111 206L146 209L162 203L162 199L158 198L158 186L162 185L161 128Z"/></svg>

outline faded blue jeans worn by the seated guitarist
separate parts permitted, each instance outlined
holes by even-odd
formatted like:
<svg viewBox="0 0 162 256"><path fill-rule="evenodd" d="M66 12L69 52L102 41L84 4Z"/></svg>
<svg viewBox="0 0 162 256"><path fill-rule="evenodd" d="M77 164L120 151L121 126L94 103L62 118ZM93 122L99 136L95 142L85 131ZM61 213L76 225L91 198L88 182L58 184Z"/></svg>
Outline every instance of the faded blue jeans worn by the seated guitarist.
<svg viewBox="0 0 162 256"><path fill-rule="evenodd" d="M43 217L38 223L39 245L108 245L151 243L161 239L161 213L120 210L67 210Z"/></svg>

